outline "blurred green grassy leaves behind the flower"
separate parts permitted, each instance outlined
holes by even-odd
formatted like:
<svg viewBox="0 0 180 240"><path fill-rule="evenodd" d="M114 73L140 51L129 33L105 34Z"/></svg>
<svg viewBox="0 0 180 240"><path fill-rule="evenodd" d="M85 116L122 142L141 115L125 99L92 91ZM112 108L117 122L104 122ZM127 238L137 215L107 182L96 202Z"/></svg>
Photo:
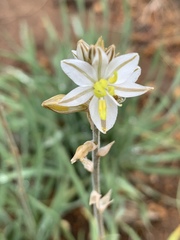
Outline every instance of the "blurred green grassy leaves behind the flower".
<svg viewBox="0 0 180 240"><path fill-rule="evenodd" d="M47 38L42 47L47 64L38 57L39 50L26 24L21 26L21 46L16 46L16 53L2 52L16 64L1 67L0 73L0 239L83 240L86 229L80 227L75 238L64 219L77 208L89 222L90 239L97 239L96 224L88 206L90 174L79 163L70 164L75 149L91 139L86 115L59 115L41 107L42 101L73 88L59 65L75 48L71 28L75 39L95 43L102 35L106 45L113 43L113 39L108 42L108 2L101 1L101 29L94 27L93 12L87 27L84 1L78 0L76 4L78 14L69 16L67 5L60 2L61 40L50 20L43 19ZM130 46L132 27L126 1L123 9L126 17L119 33L121 44L116 46L121 52ZM105 214L108 239L119 239L115 235L119 228L131 239L140 239L135 230L121 220L127 201L141 203L139 211L148 223L143 202L145 193L128 180L127 174L136 170L147 174L180 174L179 168L169 167L179 161L179 143L174 136L180 130L177 114L180 103L173 92L180 82L180 72L177 71L166 93L161 90L165 75L159 52L152 58L142 83L150 81L154 72L156 78L151 82L155 90L143 100L141 97L126 100L119 109L115 127L102 136L102 145L115 140L107 159L102 161L102 192L112 188L114 199ZM14 148L18 154L13 152Z"/></svg>

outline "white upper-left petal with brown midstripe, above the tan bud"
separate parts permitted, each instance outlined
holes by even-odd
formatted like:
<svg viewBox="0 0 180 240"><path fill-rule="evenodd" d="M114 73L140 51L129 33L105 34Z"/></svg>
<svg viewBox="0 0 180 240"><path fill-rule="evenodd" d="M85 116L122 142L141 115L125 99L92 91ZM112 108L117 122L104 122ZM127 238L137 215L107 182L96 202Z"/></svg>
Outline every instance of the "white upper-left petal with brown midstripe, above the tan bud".
<svg viewBox="0 0 180 240"><path fill-rule="evenodd" d="M61 61L62 70L79 86L92 86L95 82L96 73L93 67L78 59Z"/></svg>

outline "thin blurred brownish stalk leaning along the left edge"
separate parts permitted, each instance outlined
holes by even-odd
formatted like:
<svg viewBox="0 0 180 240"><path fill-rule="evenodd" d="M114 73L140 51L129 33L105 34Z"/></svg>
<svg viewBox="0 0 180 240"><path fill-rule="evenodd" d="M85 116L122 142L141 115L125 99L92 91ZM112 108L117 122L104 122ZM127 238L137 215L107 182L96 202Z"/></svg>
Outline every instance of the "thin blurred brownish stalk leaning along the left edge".
<svg viewBox="0 0 180 240"><path fill-rule="evenodd" d="M1 120L1 123L4 127L4 130L6 132L9 148L10 148L11 153L12 153L12 155L14 157L14 160L15 160L15 166L16 166L16 171L17 171L17 184L18 184L19 199L20 199L20 202L21 202L22 207L24 209L24 212L26 214L25 221L27 223L27 227L28 227L28 230L29 230L29 234L30 234L29 237L32 238L35 235L35 221L34 221L34 217L33 217L32 211L30 209L30 206L28 204L28 197L27 197L27 194L26 194L26 191L25 191L25 188L24 188L24 184L23 184L20 153L19 153L18 147L15 143L12 132L11 132L9 126L8 126L7 120L4 116L4 111L3 111L3 107L1 105L1 103L0 103L0 120Z"/></svg>

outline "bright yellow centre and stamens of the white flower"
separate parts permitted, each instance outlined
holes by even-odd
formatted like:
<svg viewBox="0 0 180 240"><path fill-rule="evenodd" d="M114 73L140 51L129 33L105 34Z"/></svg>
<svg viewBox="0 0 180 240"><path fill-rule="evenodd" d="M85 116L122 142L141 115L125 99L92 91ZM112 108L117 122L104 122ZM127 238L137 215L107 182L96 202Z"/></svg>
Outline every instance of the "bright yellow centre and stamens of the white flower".
<svg viewBox="0 0 180 240"><path fill-rule="evenodd" d="M115 95L115 90L113 83L117 81L117 72L114 72L114 74L106 79L100 79L97 81L93 88L94 88L94 95L99 98L99 105L98 105L98 110L99 110L99 116L102 121L106 120L107 117L107 105L104 97L107 94L110 94L111 96Z"/></svg>

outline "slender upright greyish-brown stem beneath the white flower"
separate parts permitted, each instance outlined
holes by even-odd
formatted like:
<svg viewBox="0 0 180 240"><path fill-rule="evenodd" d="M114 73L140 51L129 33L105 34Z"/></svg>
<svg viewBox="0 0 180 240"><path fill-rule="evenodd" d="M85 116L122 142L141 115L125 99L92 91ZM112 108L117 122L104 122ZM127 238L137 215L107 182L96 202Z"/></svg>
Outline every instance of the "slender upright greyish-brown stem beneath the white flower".
<svg viewBox="0 0 180 240"><path fill-rule="evenodd" d="M94 164L94 171L92 172L92 187L93 190L101 193L100 189L100 157L98 157L97 152L100 148L100 132L96 128L94 124L91 124L92 126L92 133L93 133L93 141L98 146L93 152L92 152L92 161ZM97 209L96 205L94 204L94 216L97 220L98 224L98 230L99 230L99 240L104 239L105 233L104 233L104 222L103 222L103 216L102 213Z"/></svg>

